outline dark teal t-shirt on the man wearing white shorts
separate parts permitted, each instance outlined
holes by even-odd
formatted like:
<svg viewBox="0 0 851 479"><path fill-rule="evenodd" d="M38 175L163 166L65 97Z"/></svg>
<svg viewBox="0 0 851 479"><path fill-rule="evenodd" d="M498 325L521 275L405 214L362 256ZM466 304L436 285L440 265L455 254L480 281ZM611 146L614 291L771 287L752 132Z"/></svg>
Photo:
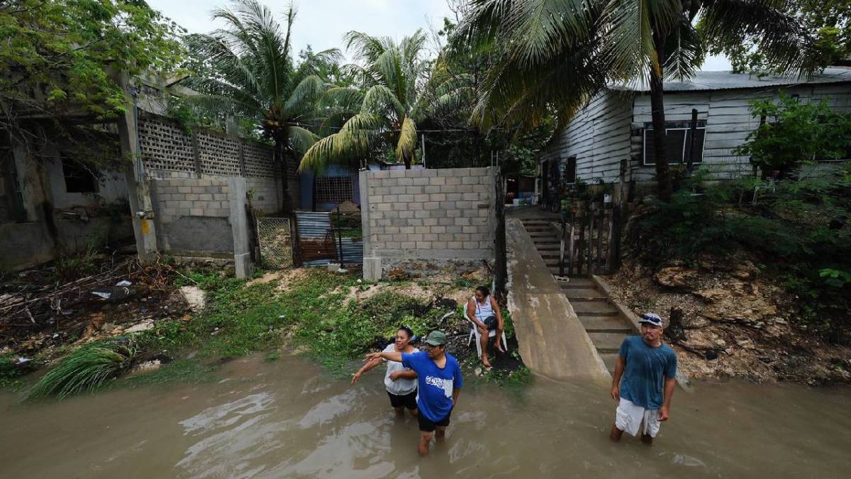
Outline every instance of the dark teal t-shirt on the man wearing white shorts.
<svg viewBox="0 0 851 479"><path fill-rule="evenodd" d="M626 361L620 397L647 409L662 407L665 378L677 376L677 353L667 344L654 348L640 336L630 336L618 354Z"/></svg>

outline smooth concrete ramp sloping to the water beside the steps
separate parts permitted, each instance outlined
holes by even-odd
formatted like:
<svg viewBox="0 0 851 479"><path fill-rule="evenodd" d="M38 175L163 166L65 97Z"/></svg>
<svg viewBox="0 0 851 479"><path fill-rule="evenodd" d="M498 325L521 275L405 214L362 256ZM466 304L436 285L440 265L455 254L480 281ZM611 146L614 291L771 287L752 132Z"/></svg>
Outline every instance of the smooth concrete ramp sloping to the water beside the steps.
<svg viewBox="0 0 851 479"><path fill-rule="evenodd" d="M610 381L606 366L516 217L505 219L508 309L523 362L552 379Z"/></svg>

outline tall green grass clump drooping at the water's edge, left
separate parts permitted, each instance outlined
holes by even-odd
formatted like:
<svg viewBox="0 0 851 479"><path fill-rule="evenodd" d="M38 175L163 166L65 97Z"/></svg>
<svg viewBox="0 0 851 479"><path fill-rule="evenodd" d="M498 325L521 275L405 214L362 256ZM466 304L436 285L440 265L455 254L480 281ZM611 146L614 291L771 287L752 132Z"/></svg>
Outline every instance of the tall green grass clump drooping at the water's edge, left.
<svg viewBox="0 0 851 479"><path fill-rule="evenodd" d="M86 344L67 355L32 387L27 400L56 396L60 400L100 388L127 370L136 357L133 340L106 339Z"/></svg>

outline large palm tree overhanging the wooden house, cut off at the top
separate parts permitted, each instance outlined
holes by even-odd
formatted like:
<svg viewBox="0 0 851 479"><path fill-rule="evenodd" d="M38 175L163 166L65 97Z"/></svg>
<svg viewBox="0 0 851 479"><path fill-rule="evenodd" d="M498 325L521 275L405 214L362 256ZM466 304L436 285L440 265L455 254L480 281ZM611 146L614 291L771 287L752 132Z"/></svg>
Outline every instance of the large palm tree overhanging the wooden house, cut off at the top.
<svg viewBox="0 0 851 479"><path fill-rule="evenodd" d="M656 180L671 197L663 80L694 75L707 50L745 39L780 72L808 74L812 38L786 14L787 0L471 0L458 34L511 45L488 75L474 112L481 124L559 124L605 82L643 82L653 108ZM699 19L698 26L694 20Z"/></svg>

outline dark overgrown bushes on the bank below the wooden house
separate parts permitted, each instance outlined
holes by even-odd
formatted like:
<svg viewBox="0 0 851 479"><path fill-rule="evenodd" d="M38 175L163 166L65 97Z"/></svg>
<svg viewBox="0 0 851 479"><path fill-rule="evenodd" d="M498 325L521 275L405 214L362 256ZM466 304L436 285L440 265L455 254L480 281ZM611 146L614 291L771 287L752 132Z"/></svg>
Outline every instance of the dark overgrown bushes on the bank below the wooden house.
<svg viewBox="0 0 851 479"><path fill-rule="evenodd" d="M629 241L654 264L757 257L800 300L798 320L832 342L851 340L851 174L821 169L797 180L745 178L703 186L695 176L669 203L637 217Z"/></svg>

